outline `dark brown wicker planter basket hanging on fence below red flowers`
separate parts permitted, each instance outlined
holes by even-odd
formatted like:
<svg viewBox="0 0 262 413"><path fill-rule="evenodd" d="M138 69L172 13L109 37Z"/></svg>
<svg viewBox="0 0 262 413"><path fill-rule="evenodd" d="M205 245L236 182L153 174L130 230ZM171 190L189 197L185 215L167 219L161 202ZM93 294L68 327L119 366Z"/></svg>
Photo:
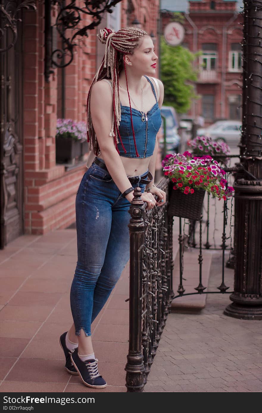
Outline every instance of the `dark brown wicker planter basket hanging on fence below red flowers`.
<svg viewBox="0 0 262 413"><path fill-rule="evenodd" d="M195 189L193 194L184 194L180 190L171 190L168 215L199 221L206 191Z"/></svg>

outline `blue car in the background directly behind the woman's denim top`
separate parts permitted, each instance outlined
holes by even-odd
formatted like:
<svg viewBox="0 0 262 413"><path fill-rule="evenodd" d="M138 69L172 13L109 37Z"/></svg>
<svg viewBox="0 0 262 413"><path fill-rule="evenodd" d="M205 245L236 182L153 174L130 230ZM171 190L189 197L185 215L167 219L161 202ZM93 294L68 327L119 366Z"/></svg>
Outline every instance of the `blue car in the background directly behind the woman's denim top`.
<svg viewBox="0 0 262 413"><path fill-rule="evenodd" d="M166 152L179 152L180 136L178 135L178 118L172 106L162 106L161 116L166 119ZM163 128L163 121L162 126ZM164 149L163 139L159 140L159 146Z"/></svg>

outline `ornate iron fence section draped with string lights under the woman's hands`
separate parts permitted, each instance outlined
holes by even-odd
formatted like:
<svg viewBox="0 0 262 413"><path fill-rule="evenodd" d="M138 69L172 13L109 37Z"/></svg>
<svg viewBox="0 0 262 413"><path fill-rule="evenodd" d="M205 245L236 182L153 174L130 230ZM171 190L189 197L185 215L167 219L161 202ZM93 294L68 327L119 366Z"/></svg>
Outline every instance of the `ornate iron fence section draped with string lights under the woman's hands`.
<svg viewBox="0 0 262 413"><path fill-rule="evenodd" d="M145 210L137 188L130 207L130 298L127 392L142 392L173 299L173 218L168 217L169 180L163 207Z"/></svg>

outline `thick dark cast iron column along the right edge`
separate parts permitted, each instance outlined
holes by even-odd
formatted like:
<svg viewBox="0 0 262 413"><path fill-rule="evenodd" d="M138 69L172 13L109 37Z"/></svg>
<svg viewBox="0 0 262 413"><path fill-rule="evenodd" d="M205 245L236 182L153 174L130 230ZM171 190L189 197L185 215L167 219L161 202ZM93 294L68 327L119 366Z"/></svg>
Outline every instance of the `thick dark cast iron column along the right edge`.
<svg viewBox="0 0 262 413"><path fill-rule="evenodd" d="M262 319L262 0L244 1L242 163L235 181L234 292L224 313Z"/></svg>

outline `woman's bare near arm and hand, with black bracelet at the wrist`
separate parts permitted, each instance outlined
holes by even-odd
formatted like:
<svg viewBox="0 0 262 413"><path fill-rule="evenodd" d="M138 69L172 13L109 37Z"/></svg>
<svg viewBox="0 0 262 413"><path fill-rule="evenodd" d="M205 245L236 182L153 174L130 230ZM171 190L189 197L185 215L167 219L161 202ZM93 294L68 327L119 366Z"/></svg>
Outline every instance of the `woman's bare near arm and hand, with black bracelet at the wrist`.
<svg viewBox="0 0 262 413"><path fill-rule="evenodd" d="M103 160L105 161L106 167L112 176L115 185L117 185L120 192L123 193L132 185L127 178L123 163L115 149L114 137L109 136L113 118L113 97L108 83L99 81L94 84L91 93L90 111ZM153 197L147 193L142 195L144 195L142 197L143 201L150 204L150 199ZM131 202L133 199L133 192L127 194L126 199ZM155 201L151 202L150 208L154 207L154 205Z"/></svg>

